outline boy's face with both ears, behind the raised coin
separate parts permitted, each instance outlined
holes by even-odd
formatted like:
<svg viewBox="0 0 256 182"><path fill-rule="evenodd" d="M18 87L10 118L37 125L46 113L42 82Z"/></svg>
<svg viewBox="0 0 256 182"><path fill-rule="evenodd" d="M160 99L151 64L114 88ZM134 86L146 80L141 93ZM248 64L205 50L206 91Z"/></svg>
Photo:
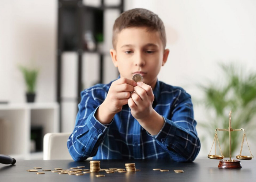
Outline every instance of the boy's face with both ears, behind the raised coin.
<svg viewBox="0 0 256 182"><path fill-rule="evenodd" d="M154 88L161 66L166 63L169 50L163 50L158 31L146 27L125 28L117 35L116 50L110 50L114 66L121 78L143 76L143 82Z"/></svg>

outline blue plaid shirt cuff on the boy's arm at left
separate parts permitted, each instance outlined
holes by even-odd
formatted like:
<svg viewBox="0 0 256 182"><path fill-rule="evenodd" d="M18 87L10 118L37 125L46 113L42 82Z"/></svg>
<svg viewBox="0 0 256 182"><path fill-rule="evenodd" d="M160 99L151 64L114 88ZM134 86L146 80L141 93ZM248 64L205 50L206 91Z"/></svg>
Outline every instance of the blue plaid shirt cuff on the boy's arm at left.
<svg viewBox="0 0 256 182"><path fill-rule="evenodd" d="M87 127L97 138L99 138L106 129L112 124L114 118L111 120L109 124L102 124L95 118L95 113L98 110L99 106L95 109L94 113L90 116L89 122L87 122Z"/></svg>

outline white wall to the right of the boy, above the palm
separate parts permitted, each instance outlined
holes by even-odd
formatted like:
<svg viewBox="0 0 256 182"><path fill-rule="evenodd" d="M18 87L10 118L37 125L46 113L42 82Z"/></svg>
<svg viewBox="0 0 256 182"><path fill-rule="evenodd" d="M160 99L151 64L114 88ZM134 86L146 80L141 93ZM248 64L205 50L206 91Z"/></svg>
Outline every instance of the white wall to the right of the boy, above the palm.
<svg viewBox="0 0 256 182"><path fill-rule="evenodd" d="M192 99L202 94L196 84L220 79L218 62L234 61L256 71L256 1L133 0L126 7L131 8L149 9L163 20L170 54L158 78L183 87ZM204 108L194 111L197 122L207 120ZM197 131L199 137L204 134L202 128ZM212 143L207 145L199 157L207 157Z"/></svg>

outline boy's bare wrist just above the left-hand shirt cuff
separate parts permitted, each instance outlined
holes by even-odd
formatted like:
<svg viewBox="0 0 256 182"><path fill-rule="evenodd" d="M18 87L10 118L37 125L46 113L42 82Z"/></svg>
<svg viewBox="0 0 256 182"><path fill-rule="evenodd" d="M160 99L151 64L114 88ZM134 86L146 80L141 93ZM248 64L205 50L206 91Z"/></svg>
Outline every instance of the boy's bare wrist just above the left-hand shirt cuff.
<svg viewBox="0 0 256 182"><path fill-rule="evenodd" d="M115 114L116 113L108 112L108 109L103 102L96 111L95 118L102 124L109 124L114 118Z"/></svg>

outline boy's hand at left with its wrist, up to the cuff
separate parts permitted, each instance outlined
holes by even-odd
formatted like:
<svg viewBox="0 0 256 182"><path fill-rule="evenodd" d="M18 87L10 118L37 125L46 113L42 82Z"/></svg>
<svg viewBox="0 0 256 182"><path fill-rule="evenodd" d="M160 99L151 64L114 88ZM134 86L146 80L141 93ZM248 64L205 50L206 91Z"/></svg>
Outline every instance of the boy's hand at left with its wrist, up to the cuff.
<svg viewBox="0 0 256 182"><path fill-rule="evenodd" d="M117 112L128 103L131 92L134 91L136 82L127 78L120 78L114 81L104 102L99 106L95 117L102 124L108 124Z"/></svg>

